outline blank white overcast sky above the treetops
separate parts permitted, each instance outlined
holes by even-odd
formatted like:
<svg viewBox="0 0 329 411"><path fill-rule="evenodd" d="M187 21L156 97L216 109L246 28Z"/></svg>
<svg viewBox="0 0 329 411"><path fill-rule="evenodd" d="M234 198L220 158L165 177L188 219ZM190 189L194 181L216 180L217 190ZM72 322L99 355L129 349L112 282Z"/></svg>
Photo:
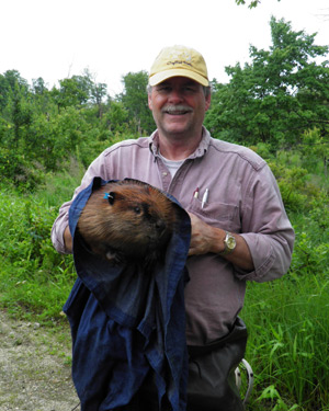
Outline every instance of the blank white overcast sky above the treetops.
<svg viewBox="0 0 329 411"><path fill-rule="evenodd" d="M249 0L248 0L249 2ZM148 71L162 47L201 52L209 79L227 81L224 68L248 60L249 45L268 49L270 19L318 33L329 44L329 0L261 0L256 9L235 0L2 0L0 73L15 69L48 87L88 68L114 95L122 76Z"/></svg>

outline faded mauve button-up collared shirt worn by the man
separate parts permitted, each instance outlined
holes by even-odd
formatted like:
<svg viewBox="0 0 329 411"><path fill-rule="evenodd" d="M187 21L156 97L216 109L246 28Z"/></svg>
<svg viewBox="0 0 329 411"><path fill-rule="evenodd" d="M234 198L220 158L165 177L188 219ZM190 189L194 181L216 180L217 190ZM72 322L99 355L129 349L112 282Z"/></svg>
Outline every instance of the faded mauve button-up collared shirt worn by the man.
<svg viewBox="0 0 329 411"><path fill-rule="evenodd" d="M105 181L137 179L173 195L205 222L245 238L254 264L252 272L213 253L188 259L186 342L201 345L230 330L243 306L246 281L261 283L287 272L295 235L269 165L252 150L214 139L203 128L197 149L173 179L158 152L157 132L107 148L90 164L73 198L94 176ZM193 195L196 189L197 198ZM208 197L202 207L206 189ZM54 247L60 253L67 252L63 235L70 204L63 204L52 229Z"/></svg>

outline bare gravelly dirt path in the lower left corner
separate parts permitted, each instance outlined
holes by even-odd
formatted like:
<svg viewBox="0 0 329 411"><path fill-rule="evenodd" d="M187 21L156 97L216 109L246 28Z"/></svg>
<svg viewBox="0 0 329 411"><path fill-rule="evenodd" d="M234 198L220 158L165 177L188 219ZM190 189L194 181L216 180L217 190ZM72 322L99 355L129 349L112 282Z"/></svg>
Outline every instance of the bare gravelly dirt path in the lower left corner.
<svg viewBox="0 0 329 411"><path fill-rule="evenodd" d="M69 328L56 335L0 311L0 410L80 411Z"/></svg>

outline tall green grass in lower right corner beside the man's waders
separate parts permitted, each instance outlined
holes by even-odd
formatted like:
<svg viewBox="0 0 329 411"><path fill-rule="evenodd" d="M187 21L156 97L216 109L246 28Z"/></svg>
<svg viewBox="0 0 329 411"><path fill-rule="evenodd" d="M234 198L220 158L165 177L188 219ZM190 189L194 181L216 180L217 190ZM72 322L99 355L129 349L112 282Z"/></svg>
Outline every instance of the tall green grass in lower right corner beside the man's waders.
<svg viewBox="0 0 329 411"><path fill-rule="evenodd" d="M262 400L273 410L326 409L319 404L329 403L328 301L329 276L322 273L248 285L241 317L256 375L252 410Z"/></svg>

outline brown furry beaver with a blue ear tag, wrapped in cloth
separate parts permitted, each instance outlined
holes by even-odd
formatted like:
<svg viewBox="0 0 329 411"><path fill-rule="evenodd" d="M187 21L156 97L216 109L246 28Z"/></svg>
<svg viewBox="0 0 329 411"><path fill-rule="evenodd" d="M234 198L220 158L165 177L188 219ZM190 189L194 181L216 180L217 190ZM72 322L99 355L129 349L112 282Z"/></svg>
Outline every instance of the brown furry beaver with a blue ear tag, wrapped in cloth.
<svg viewBox="0 0 329 411"><path fill-rule="evenodd" d="M175 204L136 180L110 182L89 197L77 224L90 250L113 263L163 254L177 220Z"/></svg>

